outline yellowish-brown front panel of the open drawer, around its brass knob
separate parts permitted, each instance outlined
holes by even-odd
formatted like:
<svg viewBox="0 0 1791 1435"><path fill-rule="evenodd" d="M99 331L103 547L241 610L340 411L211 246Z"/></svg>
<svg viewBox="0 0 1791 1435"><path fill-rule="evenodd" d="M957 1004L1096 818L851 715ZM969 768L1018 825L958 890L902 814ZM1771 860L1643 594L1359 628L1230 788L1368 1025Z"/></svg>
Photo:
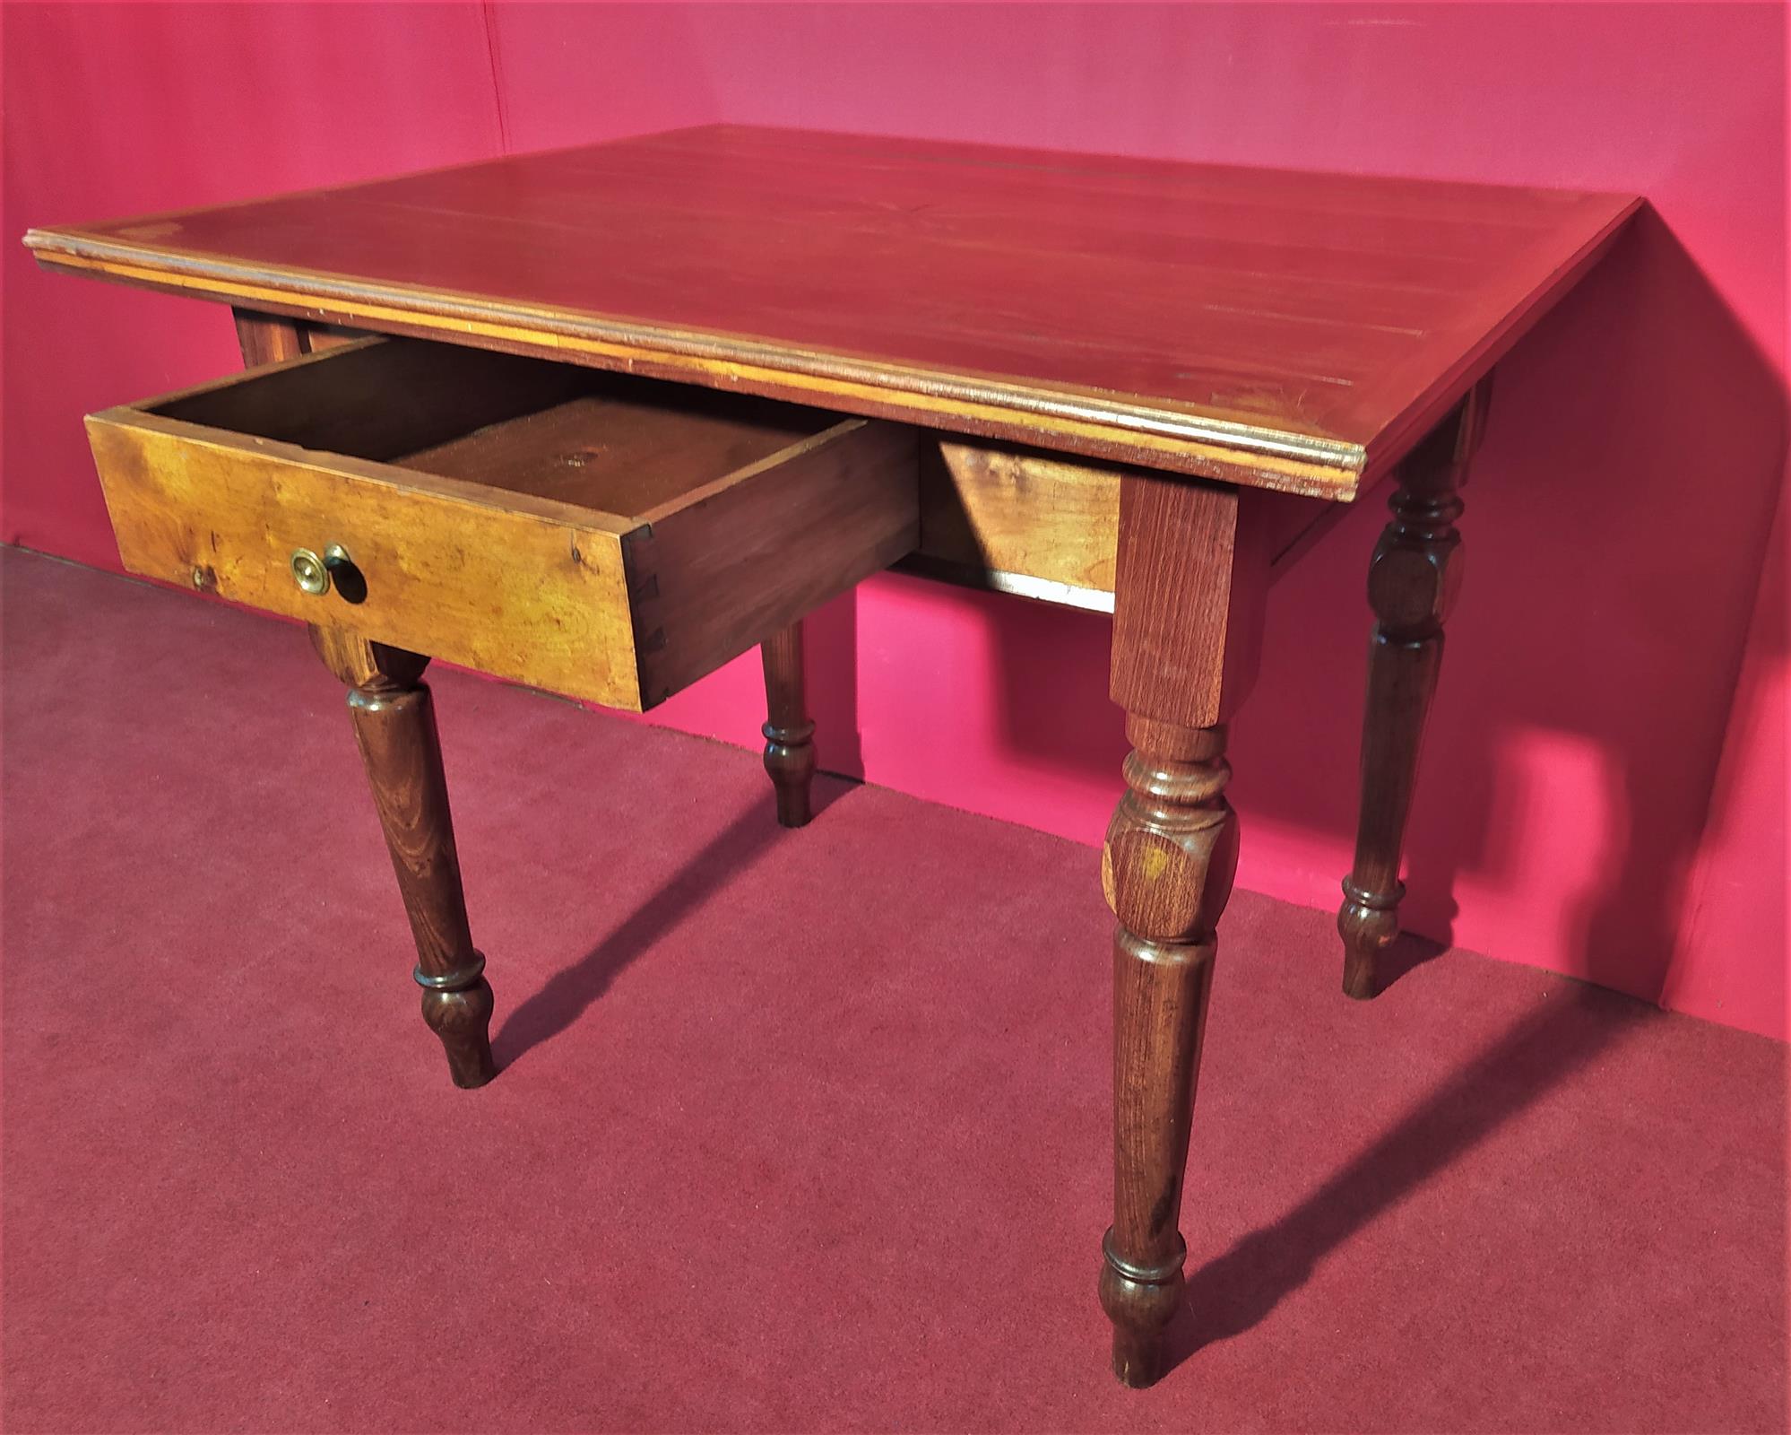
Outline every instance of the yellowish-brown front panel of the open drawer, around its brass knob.
<svg viewBox="0 0 1791 1435"><path fill-rule="evenodd" d="M125 568L532 686L638 706L620 536L145 425L88 421ZM272 446L270 446L272 448ZM308 593L338 543L365 598Z"/></svg>

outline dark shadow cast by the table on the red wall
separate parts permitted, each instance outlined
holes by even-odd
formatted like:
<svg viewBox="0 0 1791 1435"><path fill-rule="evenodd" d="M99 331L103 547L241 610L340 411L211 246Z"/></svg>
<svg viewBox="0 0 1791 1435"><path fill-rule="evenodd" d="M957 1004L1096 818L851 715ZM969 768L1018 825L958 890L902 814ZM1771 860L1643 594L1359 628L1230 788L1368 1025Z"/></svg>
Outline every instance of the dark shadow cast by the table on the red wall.
<svg viewBox="0 0 1791 1435"><path fill-rule="evenodd" d="M1662 996L1786 430L1782 380L1651 210L1501 365L1406 842L1410 930L1451 942L1458 883L1503 887L1526 919L1556 914L1553 933L1526 928L1538 951ZM1261 681L1232 724L1247 829L1268 819L1316 835L1338 878L1354 842L1363 589L1386 493L1277 584ZM1110 620L983 613L1003 740L1118 794ZM1782 656L1782 631L1775 641L1766 657ZM1531 837L1526 849L1521 833L1546 846Z"/></svg>

